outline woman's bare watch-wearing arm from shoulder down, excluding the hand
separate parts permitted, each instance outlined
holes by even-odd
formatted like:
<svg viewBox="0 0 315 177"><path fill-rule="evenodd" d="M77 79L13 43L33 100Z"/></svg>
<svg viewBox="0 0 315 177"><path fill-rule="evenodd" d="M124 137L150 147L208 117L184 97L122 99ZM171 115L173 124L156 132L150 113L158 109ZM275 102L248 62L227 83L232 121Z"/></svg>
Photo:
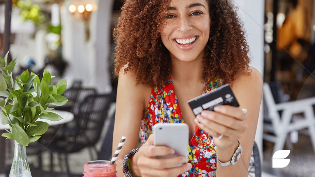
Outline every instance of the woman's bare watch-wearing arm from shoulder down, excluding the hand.
<svg viewBox="0 0 315 177"><path fill-rule="evenodd" d="M262 77L261 74L252 68L252 73L249 76L239 76L232 84L233 92L237 97L240 104L240 108L246 108L248 110L247 118L245 122L247 129L238 140L243 146L243 153L235 165L229 165L222 167L217 163L217 175L221 176L238 176L243 177L248 175L248 167L251 152L253 150L254 139L256 134L259 110L261 105L262 96ZM231 157L238 147L238 143L226 149L217 149L217 157L220 161L227 162L231 160ZM222 159L222 160L221 160Z"/></svg>

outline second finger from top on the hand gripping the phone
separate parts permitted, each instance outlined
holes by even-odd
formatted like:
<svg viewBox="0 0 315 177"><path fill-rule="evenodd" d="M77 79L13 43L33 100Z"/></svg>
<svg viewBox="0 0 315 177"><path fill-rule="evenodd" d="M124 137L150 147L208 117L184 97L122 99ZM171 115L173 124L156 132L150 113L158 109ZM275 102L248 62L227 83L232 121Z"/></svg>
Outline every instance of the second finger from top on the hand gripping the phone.
<svg viewBox="0 0 315 177"><path fill-rule="evenodd" d="M160 158L160 159L151 158L149 161L145 162L142 165L148 168L164 169L164 168L182 165L184 163L187 163L187 161L188 161L187 157L184 157L184 156Z"/></svg>

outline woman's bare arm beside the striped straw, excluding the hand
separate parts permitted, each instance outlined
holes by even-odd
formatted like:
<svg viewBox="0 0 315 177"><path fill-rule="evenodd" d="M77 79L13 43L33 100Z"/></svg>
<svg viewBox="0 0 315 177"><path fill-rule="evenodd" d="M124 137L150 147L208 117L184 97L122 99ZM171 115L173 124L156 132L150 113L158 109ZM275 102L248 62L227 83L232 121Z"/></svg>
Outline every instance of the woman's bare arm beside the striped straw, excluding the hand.
<svg viewBox="0 0 315 177"><path fill-rule="evenodd" d="M123 74L121 71L119 73L112 154L122 136L126 137L126 141L116 160L117 176L123 176L123 157L138 147L144 97L141 92L143 86L140 84L136 86L135 83L135 76L132 72Z"/></svg>

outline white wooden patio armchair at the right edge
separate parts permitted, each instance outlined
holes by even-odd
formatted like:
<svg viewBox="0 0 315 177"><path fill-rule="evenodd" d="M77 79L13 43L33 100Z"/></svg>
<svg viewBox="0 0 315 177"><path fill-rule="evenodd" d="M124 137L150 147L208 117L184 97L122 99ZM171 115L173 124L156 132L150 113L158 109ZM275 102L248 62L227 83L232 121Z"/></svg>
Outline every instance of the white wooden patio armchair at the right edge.
<svg viewBox="0 0 315 177"><path fill-rule="evenodd" d="M305 128L308 129L315 153L315 116L313 110L315 97L276 103L268 83L264 83L263 92L264 107L267 110L264 116L263 139L275 143L272 154L284 148L288 133ZM295 115L298 113L303 113L303 116Z"/></svg>

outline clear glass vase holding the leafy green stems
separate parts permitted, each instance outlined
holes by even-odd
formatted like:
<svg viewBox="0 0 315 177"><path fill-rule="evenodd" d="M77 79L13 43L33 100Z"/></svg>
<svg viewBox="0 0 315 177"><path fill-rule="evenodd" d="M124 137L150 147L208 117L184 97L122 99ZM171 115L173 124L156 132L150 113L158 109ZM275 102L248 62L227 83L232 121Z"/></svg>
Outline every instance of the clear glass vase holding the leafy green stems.
<svg viewBox="0 0 315 177"><path fill-rule="evenodd" d="M14 140L14 157L9 177L31 177L26 157L26 147Z"/></svg>

